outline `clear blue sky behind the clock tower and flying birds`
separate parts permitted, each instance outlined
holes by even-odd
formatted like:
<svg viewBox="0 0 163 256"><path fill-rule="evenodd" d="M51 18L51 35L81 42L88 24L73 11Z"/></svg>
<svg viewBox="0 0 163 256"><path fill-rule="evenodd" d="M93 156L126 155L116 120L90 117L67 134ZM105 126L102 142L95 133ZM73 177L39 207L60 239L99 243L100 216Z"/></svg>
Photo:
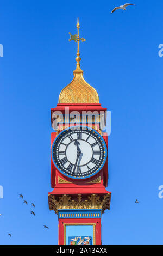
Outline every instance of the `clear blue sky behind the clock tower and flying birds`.
<svg viewBox="0 0 163 256"><path fill-rule="evenodd" d="M104 245L162 244L162 71L158 56L163 2L5 0L1 4L1 245L57 245L58 218L48 209L50 109L73 78L77 17L81 68L111 111L111 208L102 216ZM146 4L148 5L146 6ZM30 204L18 198L22 193ZM135 204L138 198L140 204ZM43 228L43 224L49 230ZM7 236L11 233L12 237Z"/></svg>

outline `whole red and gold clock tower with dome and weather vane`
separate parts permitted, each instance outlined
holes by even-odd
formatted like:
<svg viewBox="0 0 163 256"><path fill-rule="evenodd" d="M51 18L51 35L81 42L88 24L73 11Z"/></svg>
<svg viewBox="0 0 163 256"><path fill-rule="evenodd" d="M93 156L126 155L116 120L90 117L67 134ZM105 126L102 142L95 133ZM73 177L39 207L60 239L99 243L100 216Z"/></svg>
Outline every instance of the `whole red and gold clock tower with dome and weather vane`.
<svg viewBox="0 0 163 256"><path fill-rule="evenodd" d="M79 21L77 67L70 84L62 89L51 109L51 184L49 209L59 221L59 245L101 245L101 217L110 209L108 136L102 132L106 108L98 93L83 78L80 68Z"/></svg>

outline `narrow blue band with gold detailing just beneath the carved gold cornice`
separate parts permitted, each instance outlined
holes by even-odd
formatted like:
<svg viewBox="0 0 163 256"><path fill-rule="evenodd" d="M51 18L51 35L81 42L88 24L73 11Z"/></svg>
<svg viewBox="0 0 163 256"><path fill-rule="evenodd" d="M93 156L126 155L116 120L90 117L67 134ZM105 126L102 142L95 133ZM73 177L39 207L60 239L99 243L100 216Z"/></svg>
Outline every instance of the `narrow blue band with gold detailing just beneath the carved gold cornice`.
<svg viewBox="0 0 163 256"><path fill-rule="evenodd" d="M58 210L58 218L101 218L101 209Z"/></svg>

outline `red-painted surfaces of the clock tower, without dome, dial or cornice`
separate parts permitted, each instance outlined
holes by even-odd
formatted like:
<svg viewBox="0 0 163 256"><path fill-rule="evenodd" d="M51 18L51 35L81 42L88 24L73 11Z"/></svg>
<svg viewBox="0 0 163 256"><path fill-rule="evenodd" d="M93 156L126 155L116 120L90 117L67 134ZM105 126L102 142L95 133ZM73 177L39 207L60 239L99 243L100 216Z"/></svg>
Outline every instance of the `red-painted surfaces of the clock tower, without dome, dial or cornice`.
<svg viewBox="0 0 163 256"><path fill-rule="evenodd" d="M52 118L52 124L53 124L53 113L56 111L62 112L64 115L65 113L65 107L68 107L69 112L72 111L78 111L82 114L83 111L97 111L99 114L101 112L106 112L106 108L102 108L101 104L99 103L90 103L90 104L57 104L56 108L51 109L51 118ZM74 125L74 124L73 124ZM79 125L79 124L78 124ZM104 141L106 143L107 149L108 149L108 136L106 133L102 133L99 128L99 123L96 124L89 124L89 123L83 123L81 125L90 126L99 133L101 133L102 137L104 138ZM92 176L91 178L87 178L84 180L75 180L72 178L67 178L63 174L59 172L59 170L55 167L53 160L52 160L52 145L54 142L54 139L56 136L64 129L66 129L68 126L71 126L67 123L59 124L59 129L57 132L51 133L51 185L53 191L48 193L48 195L54 196L55 198L61 197L64 195L70 195L72 199L76 200L78 194L82 194L83 196L90 196L91 194L97 194L98 196L104 196L106 194L110 194L111 192L106 191L105 187L108 185L108 157L106 159L106 162L104 164L104 167L101 169L99 173ZM110 203L109 203L110 205ZM66 206L65 206L66 207ZM49 200L49 209L53 209L51 200ZM65 244L65 238L64 238L64 228L66 223L71 224L78 224L78 223L95 223L95 241L96 245L101 245L101 218L88 218L88 219L73 219L73 218L65 218L59 219L59 245Z"/></svg>

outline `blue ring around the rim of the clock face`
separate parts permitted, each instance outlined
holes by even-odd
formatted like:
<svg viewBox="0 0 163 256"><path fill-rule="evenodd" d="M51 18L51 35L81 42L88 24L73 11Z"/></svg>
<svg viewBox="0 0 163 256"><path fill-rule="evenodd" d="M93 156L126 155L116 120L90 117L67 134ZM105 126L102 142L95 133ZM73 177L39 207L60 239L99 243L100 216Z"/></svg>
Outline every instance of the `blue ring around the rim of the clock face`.
<svg viewBox="0 0 163 256"><path fill-rule="evenodd" d="M53 157L53 148L54 148L54 144L55 144L55 142L57 141L58 137L61 136L61 134L62 134L63 132L65 132L66 130L71 130L72 128L74 129L74 128L77 128L77 127L79 127L80 129L81 129L82 127L84 127L84 129L92 130L93 132L97 133L97 135L98 135L98 136L101 138L101 140L103 141L104 148L105 148L105 156L104 156L104 160L103 160L103 163L102 163L101 167L99 167L98 170L96 170L95 173L90 174L90 175L88 175L88 176L86 176L86 177L80 176L80 178L77 177L77 176L68 175L68 174L66 174L65 172L63 172L63 171L57 166L57 164L56 164L55 161L54 161L54 157ZM87 127L87 126L82 126L82 125L81 125L81 126L71 126L71 127L67 127L66 129L62 130L62 131L59 133L59 135L54 139L54 142L53 142L53 145L52 145L52 153L51 153L51 154L52 154L53 163L54 163L55 167L59 170L59 172L60 172L61 174L63 174L64 176L67 176L67 178L70 178L70 179L86 180L86 179L89 179L90 177L96 175L96 174L103 168L103 166L104 166L104 164L105 164L105 162L106 162L106 158L107 158L107 155L108 155L108 151L107 151L106 143L105 143L103 137L99 134L99 132L97 132L96 130L92 129L91 127Z"/></svg>

